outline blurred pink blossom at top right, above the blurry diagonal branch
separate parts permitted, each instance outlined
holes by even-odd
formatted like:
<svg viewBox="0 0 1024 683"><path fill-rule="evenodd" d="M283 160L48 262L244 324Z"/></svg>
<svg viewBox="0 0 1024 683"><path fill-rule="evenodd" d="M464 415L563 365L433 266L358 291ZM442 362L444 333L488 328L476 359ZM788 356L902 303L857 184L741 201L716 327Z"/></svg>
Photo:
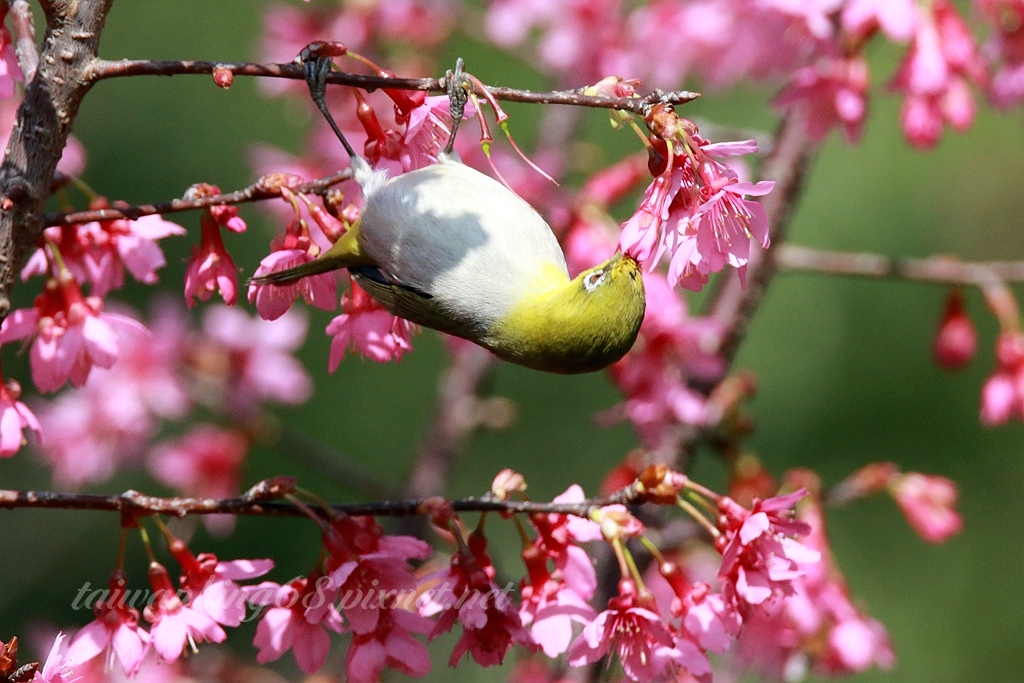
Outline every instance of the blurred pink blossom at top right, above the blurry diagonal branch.
<svg viewBox="0 0 1024 683"><path fill-rule="evenodd" d="M867 115L867 62L863 57L821 58L799 69L775 97L782 111L803 105L807 135L821 141L841 127L847 142L856 142Z"/></svg>

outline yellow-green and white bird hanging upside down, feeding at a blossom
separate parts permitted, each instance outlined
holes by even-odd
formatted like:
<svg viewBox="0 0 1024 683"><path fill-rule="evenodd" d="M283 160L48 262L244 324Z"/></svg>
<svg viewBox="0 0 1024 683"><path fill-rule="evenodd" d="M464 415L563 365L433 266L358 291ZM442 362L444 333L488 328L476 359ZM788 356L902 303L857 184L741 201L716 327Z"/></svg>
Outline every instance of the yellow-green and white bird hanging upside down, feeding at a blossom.
<svg viewBox="0 0 1024 683"><path fill-rule="evenodd" d="M616 253L570 280L548 223L494 178L450 154L388 177L341 138L361 215L316 260L254 284L348 268L393 314L553 373L600 370L633 346L645 300L632 257Z"/></svg>

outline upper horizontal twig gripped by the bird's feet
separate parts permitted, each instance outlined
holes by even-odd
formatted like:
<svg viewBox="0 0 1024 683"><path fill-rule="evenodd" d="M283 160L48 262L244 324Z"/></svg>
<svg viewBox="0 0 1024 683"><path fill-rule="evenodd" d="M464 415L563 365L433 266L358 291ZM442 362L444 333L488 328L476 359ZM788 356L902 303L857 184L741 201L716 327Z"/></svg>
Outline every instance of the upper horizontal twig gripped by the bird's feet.
<svg viewBox="0 0 1024 683"><path fill-rule="evenodd" d="M161 60L161 59L96 59L88 71L90 83L110 78L127 76L184 76L211 75L214 69L226 69L234 76L260 76L265 78L287 78L303 80L305 76L301 65L290 63L256 63L248 61L193 61L193 60ZM438 78L385 78L334 72L327 77L328 83L335 85L351 85L367 91L381 88L398 90L424 90L427 92L446 92L444 79ZM644 110L657 102L682 104L699 97L699 93L689 90L665 92L653 90L641 97L598 97L585 95L581 90L552 90L534 92L517 88L485 86L497 99L514 102L529 102L534 104L569 104L572 106L594 106L599 109L623 110L634 114L643 114ZM483 93L477 93L482 95Z"/></svg>

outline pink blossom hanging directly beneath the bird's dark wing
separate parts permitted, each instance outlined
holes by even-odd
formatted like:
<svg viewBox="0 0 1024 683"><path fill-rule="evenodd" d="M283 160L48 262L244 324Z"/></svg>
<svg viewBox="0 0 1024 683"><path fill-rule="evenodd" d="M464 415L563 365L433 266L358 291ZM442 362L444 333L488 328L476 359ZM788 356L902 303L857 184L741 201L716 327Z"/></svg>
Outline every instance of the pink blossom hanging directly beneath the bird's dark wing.
<svg viewBox="0 0 1024 683"><path fill-rule="evenodd" d="M334 337L328 357L330 372L338 369L349 349L377 362L400 360L406 351L412 350L416 327L385 310L354 281L341 297L341 308L345 312L331 321L326 330Z"/></svg>

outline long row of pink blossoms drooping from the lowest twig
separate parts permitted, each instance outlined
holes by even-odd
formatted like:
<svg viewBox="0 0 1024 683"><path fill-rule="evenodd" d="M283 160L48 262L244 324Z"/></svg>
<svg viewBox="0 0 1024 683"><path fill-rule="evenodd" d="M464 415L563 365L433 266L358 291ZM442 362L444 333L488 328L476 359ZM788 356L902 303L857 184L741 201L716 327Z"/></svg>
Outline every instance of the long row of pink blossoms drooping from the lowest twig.
<svg viewBox="0 0 1024 683"><path fill-rule="evenodd" d="M841 488L859 486L856 495L864 495L897 474L880 465ZM751 490L773 486L770 477L757 479ZM498 666L516 645L551 658L564 654L570 667L613 654L628 679L643 683L710 683L710 652L724 655L736 673L755 669L773 679L791 677L801 664L823 675L889 667L893 653L884 627L855 606L831 558L817 479L802 471L786 479L809 486L810 498L801 488L755 497L745 508L665 466L648 467L624 489L629 500L678 505L714 539L664 552L644 539L644 525L625 506L597 507L573 485L552 502L571 513L537 512L520 526L525 577L518 598L513 585L495 581L482 518L466 533L442 499L424 501L421 511L455 541L456 552L432 570L425 542L386 535L372 517L314 512L300 503L321 526L323 552L306 575L283 584L242 585L272 562L195 555L158 520L180 566L178 581L151 551L152 594L129 590L120 568L109 590L80 591L77 602L84 599L96 617L72 637L57 664L89 671L90 661L102 660L108 670L117 663L127 676L154 658L173 664L186 647L223 641L246 621L248 603L260 609L253 641L258 663L291 650L300 669L313 674L328 659L331 634L349 634L345 672L360 683L379 680L385 669L425 675L431 663L424 641L456 628L453 667L466 654L480 666ZM294 481L287 485L294 489ZM737 495L746 489L739 486ZM521 475L504 470L492 496L521 500L525 490ZM714 520L711 504L720 513ZM630 540L642 540L653 554L645 572ZM143 541L148 545L144 535ZM592 543L608 544L622 572L602 610L592 605L597 577L583 547Z"/></svg>

